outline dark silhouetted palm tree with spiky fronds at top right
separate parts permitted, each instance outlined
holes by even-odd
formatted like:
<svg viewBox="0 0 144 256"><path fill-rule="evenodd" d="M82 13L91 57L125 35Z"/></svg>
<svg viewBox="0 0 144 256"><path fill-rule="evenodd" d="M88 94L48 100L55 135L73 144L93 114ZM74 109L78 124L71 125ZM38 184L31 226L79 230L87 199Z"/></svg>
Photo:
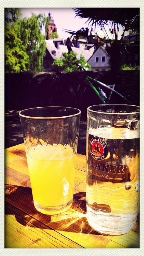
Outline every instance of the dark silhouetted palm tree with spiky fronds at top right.
<svg viewBox="0 0 144 256"><path fill-rule="evenodd" d="M67 31L72 35L87 36L88 40L98 47L99 45L107 44L107 51L111 58L111 71L118 72L121 69L123 54L126 52L126 42L123 40L125 31L128 31L132 27L139 26L139 8L74 8L76 16L80 18L87 18L87 22L100 27L105 33L105 38L102 39L98 35L90 36L88 29L80 29L79 31ZM112 34L112 39L108 36L105 25L109 27ZM120 26L123 29L121 39L118 40L118 33ZM94 40L95 39L95 40ZM131 41L132 43L132 41ZM110 46L109 46L110 45Z"/></svg>

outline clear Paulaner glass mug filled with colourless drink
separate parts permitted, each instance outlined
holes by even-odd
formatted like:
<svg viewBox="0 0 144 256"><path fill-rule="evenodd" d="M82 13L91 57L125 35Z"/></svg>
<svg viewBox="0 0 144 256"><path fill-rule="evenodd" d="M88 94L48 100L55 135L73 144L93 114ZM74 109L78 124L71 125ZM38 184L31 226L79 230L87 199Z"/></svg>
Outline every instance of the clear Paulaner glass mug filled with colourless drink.
<svg viewBox="0 0 144 256"><path fill-rule="evenodd" d="M86 154L88 223L103 234L129 232L139 209L139 107L90 106Z"/></svg>

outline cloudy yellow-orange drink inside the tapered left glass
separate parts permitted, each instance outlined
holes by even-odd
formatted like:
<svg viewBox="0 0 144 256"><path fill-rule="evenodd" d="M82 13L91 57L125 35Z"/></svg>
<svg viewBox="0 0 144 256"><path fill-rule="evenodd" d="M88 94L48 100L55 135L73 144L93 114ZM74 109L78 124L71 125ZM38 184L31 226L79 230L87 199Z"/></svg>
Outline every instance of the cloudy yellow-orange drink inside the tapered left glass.
<svg viewBox="0 0 144 256"><path fill-rule="evenodd" d="M67 210L73 200L76 154L69 145L39 145L27 153L35 208L45 214Z"/></svg>

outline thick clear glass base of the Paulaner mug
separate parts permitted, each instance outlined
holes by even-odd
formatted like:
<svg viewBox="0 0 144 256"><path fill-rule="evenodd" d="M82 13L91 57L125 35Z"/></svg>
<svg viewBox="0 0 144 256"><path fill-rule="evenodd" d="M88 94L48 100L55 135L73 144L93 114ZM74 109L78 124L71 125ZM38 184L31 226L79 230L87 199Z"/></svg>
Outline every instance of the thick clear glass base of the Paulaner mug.
<svg viewBox="0 0 144 256"><path fill-rule="evenodd" d="M136 225L135 215L113 215L106 213L95 213L87 208L87 221L97 232L107 235L126 234Z"/></svg>

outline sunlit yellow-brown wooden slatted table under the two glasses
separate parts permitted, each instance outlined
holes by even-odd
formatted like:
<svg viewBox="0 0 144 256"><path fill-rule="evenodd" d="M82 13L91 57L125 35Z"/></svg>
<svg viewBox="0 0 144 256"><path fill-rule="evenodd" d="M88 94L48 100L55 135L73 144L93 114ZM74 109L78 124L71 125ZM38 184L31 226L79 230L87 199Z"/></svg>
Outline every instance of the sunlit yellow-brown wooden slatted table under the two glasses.
<svg viewBox="0 0 144 256"><path fill-rule="evenodd" d="M84 155L77 154L71 208L51 216L34 208L24 144L5 152L5 248L139 248L139 221L119 236L101 235L89 226Z"/></svg>

